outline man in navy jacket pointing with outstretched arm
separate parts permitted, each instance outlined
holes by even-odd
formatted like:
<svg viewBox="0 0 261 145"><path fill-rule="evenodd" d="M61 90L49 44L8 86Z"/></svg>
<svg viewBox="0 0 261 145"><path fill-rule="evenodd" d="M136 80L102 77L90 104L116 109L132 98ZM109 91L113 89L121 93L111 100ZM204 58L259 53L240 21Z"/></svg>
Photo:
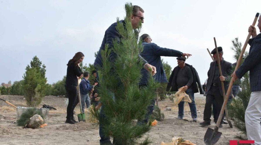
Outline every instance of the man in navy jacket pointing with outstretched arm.
<svg viewBox="0 0 261 145"><path fill-rule="evenodd" d="M185 57L187 58L191 56L189 53L182 53L180 51L174 50L174 49L168 49L168 48L162 48L160 46L157 46L155 43L151 43L152 39L148 34L143 34L140 37L140 40L142 40L142 45L144 46L143 51L140 53L140 55L148 61L149 64L156 67L157 73L153 76L156 82L160 83L168 83L165 70L163 68L162 62L161 62L161 56L169 56L169 57ZM146 86L148 84L148 77L149 72L145 69L141 70L142 78L139 83L140 86ZM152 114L153 109L155 105L155 99L152 100L152 104L148 106L148 113L145 116L145 119L142 122L138 123L147 123L149 116Z"/></svg>

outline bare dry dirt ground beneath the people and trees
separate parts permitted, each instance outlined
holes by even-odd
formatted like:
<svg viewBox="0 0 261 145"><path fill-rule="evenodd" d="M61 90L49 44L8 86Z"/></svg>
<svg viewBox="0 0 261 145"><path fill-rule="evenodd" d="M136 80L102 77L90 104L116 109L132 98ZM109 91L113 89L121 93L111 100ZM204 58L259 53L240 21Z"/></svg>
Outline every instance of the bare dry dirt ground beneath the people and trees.
<svg viewBox="0 0 261 145"><path fill-rule="evenodd" d="M15 106L26 107L26 101L23 96L0 95L0 98L9 101ZM174 106L171 101L159 102L160 108L165 115L162 122L158 122L157 126L152 127L148 133L153 145L160 145L161 142L171 142L172 137L183 137L190 140L194 144L204 145L204 135L207 127L201 127L200 122L203 121L203 111L205 97L195 94L195 102L197 105L197 122L189 122L178 120L178 107ZM50 105L57 110L66 111L65 97L46 96L42 101L42 105ZM41 106L39 106L40 108ZM171 107L171 111L164 110ZM75 108L79 110L79 104ZM50 110L53 111L53 110ZM77 116L75 116L77 118ZM184 119L192 120L189 105L185 103ZM212 118L213 119L213 118ZM0 102L0 144L99 144L99 126L90 122L80 122L76 124L65 124L66 114L49 113L44 128L30 129L17 126L16 108L9 107L8 104ZM211 122L212 129L215 123ZM228 124L223 124L223 128L219 129L222 136L218 141L218 145L228 145L229 140L239 140L236 135L240 133L238 129L229 128Z"/></svg>

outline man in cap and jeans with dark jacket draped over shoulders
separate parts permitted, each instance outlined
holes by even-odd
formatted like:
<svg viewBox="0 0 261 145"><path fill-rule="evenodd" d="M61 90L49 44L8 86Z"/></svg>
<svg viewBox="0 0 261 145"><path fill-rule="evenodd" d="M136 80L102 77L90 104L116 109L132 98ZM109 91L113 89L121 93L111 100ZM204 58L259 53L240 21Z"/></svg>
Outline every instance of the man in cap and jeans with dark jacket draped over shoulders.
<svg viewBox="0 0 261 145"><path fill-rule="evenodd" d="M184 89L185 93L189 95L191 99L191 103L189 103L189 108L191 112L191 117L193 122L197 122L197 109L194 99L194 93L198 93L197 84L200 89L200 94L203 94L203 90L200 84L200 79L197 74L197 71L193 66L185 63L186 58L178 57L177 64L169 78L169 82L167 85L167 91L177 91L179 88ZM196 84L197 83L197 84ZM179 115L177 119L182 120L184 116L184 102L181 101L179 104Z"/></svg>

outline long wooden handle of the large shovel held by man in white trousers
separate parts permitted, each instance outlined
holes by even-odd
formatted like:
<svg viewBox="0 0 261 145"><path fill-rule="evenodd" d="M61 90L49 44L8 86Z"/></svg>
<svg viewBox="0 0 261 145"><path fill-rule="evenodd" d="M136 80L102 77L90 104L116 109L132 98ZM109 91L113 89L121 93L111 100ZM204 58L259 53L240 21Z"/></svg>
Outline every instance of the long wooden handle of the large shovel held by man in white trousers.
<svg viewBox="0 0 261 145"><path fill-rule="evenodd" d="M258 19L258 16L259 16L259 13L256 13L255 19L254 19L253 24L252 24L253 26L255 26L255 23L256 23L256 21ZM240 53L240 56L239 56L239 59L238 59L238 63L236 65L236 67L235 67L235 71L238 69L238 67L240 65L240 62L242 61L243 54L244 54L244 52L245 52L245 50L247 48L247 44L248 44L248 41L249 41L249 38L250 38L251 34L252 34L252 32L249 32L248 35L247 35L247 40L245 41L245 44L244 44L244 46L243 46L243 48L241 50L241 53ZM230 83L229 83L229 88L227 89L227 92L226 92L226 98L225 98L225 100L223 102L223 105L222 105L222 108L221 108L221 111L220 111L220 114L219 114L219 117L218 117L218 122L219 123L221 122L221 119L222 119L222 116L223 116L223 113L224 113L224 110L225 110L225 106L227 104L227 101L228 101L228 98L229 98L229 95L230 95L230 93L228 93L228 92L231 92L233 83L234 83L233 79L231 79ZM217 124L218 124L218 122L217 122Z"/></svg>

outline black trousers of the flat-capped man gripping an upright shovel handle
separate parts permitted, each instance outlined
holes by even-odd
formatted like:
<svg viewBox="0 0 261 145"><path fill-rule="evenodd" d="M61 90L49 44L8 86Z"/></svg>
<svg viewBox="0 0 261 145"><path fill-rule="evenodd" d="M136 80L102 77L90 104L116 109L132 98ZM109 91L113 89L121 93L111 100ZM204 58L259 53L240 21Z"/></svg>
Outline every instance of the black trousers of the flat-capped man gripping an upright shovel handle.
<svg viewBox="0 0 261 145"><path fill-rule="evenodd" d="M211 106L212 103L215 104L216 113L214 113L214 118L218 119L220 114L220 110L222 108L224 99L223 96L220 94L218 86L211 86L208 93L206 94L206 104L204 108L204 118L203 120L206 122L211 122ZM222 120L224 119L224 115ZM216 120L215 120L216 121Z"/></svg>

